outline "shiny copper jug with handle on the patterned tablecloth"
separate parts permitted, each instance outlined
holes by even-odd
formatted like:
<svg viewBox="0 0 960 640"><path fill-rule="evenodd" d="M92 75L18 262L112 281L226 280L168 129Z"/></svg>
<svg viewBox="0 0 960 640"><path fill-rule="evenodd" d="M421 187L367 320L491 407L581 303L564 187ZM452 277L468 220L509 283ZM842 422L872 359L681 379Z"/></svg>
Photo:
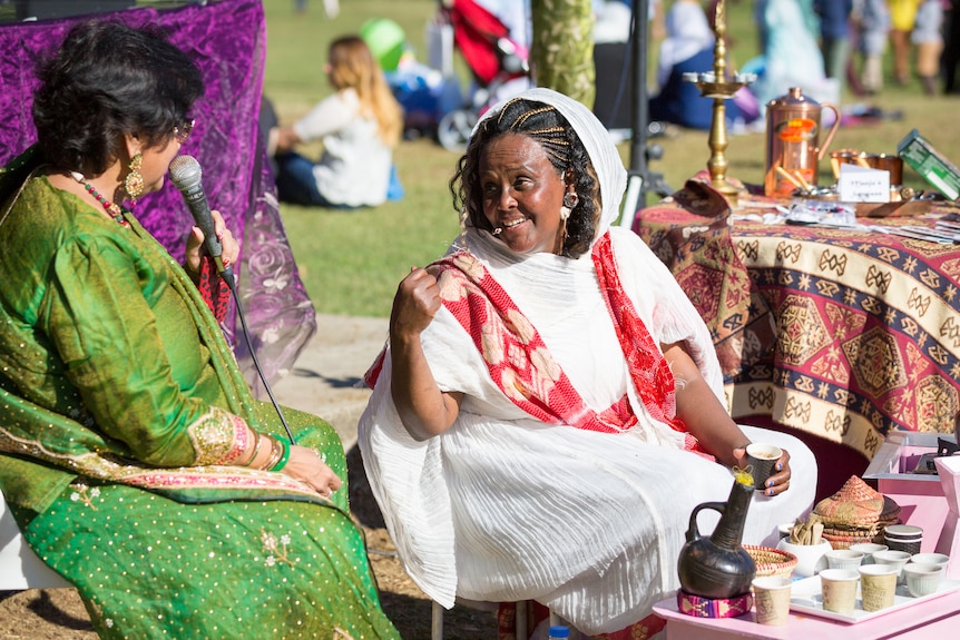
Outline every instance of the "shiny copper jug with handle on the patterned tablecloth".
<svg viewBox="0 0 960 640"><path fill-rule="evenodd" d="M821 147L817 145L817 137L823 109L833 110L835 119ZM764 194L784 197L793 194L797 185L803 188L816 185L817 165L826 154L837 128L840 109L831 102L821 105L804 96L800 87L793 87L786 96L771 100L766 106Z"/></svg>

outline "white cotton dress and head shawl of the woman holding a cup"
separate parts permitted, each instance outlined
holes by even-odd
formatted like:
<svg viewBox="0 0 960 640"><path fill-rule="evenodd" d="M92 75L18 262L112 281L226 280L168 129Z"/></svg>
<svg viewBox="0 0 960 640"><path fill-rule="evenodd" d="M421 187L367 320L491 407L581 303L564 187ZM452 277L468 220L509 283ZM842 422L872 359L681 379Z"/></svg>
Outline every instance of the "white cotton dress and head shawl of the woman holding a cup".
<svg viewBox="0 0 960 640"><path fill-rule="evenodd" d="M521 97L555 105L580 136L600 178L598 233L607 230L626 173L603 126L554 91ZM636 235L610 233L624 288L654 341L686 341L722 397L713 344L693 305ZM629 375L589 255L518 257L472 228L466 242L590 407L604 410L623 396ZM464 394L457 423L425 442L409 436L391 398L388 353L359 430L371 486L414 582L447 608L454 597L538 600L586 633L616 631L649 614L678 585L676 560L693 508L725 500L729 471L683 451L682 439L649 417L634 390L639 424L625 433L531 419L497 387L445 308L421 338L441 388ZM764 437L791 451L794 477L813 471L809 485L799 482L788 496L755 500L748 531L756 542L805 512L816 483L809 450L775 435ZM708 532L709 516L702 520Z"/></svg>

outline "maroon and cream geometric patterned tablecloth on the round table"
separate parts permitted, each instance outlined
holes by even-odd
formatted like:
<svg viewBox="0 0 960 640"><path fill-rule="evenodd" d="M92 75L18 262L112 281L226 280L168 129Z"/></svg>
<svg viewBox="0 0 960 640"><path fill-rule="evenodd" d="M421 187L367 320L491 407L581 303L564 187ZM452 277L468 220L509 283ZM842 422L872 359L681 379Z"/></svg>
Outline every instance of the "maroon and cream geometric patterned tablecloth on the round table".
<svg viewBox="0 0 960 640"><path fill-rule="evenodd" d="M952 433L960 410L960 246L871 230L763 224L697 178L634 230L714 335L735 419L764 415L868 459L890 430ZM924 225L957 213L862 219Z"/></svg>

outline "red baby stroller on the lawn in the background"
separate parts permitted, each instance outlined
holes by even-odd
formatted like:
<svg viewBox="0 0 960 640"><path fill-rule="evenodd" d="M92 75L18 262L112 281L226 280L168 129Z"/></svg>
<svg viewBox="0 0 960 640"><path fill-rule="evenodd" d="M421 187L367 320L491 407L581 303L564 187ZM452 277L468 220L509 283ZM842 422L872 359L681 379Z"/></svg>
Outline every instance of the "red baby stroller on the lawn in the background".
<svg viewBox="0 0 960 640"><path fill-rule="evenodd" d="M440 23L453 29L453 45L473 75L477 89L470 101L447 112L437 125L437 140L445 149L461 151L477 119L497 99L506 82L530 73L526 48L510 38L510 29L474 0L441 2Z"/></svg>

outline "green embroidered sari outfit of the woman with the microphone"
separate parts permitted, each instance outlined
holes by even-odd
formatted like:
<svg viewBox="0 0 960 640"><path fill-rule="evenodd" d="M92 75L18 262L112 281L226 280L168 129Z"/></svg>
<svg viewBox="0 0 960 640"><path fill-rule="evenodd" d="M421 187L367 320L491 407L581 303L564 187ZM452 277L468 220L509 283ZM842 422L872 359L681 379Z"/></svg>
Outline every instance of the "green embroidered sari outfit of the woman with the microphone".
<svg viewBox="0 0 960 640"><path fill-rule="evenodd" d="M0 489L102 638L398 638L346 488L232 466L255 401L193 283L45 177L0 208ZM345 481L329 424L284 414Z"/></svg>

